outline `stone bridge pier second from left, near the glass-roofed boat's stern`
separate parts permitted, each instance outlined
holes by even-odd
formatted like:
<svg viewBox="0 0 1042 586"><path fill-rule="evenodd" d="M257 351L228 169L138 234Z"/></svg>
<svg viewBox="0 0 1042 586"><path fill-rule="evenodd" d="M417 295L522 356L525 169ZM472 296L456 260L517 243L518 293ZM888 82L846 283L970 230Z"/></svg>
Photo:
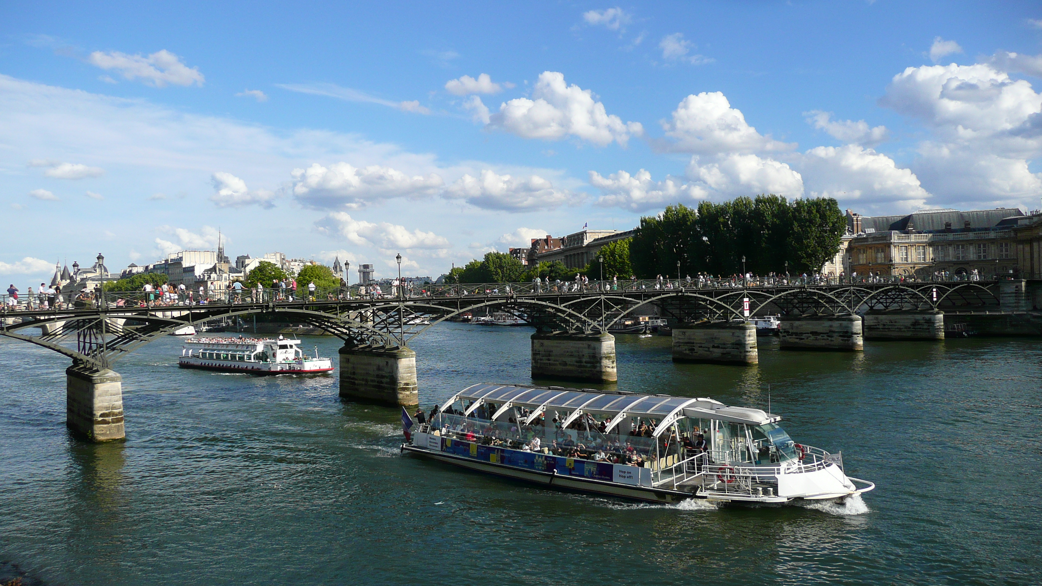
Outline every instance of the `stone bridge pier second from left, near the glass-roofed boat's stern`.
<svg viewBox="0 0 1042 586"><path fill-rule="evenodd" d="M418 405L416 352L406 347L344 346L340 349L340 396L390 406Z"/></svg>

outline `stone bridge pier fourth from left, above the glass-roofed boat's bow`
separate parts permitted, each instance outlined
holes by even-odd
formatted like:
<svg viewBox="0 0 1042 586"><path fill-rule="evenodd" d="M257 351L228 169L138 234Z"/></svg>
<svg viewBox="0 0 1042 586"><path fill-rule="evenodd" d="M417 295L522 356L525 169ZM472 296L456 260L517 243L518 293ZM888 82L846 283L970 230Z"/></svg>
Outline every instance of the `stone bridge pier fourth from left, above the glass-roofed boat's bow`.
<svg viewBox="0 0 1042 586"><path fill-rule="evenodd" d="M748 321L721 321L674 327L673 361L756 364L756 326Z"/></svg>

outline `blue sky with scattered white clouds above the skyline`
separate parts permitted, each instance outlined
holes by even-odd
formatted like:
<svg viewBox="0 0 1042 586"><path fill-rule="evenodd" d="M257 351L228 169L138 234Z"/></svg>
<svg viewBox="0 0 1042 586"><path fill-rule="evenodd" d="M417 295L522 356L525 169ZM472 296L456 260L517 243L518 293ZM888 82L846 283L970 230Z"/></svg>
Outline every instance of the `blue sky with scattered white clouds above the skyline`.
<svg viewBox="0 0 1042 586"><path fill-rule="evenodd" d="M438 276L669 204L1040 206L1037 2L4 2L0 280Z"/></svg>

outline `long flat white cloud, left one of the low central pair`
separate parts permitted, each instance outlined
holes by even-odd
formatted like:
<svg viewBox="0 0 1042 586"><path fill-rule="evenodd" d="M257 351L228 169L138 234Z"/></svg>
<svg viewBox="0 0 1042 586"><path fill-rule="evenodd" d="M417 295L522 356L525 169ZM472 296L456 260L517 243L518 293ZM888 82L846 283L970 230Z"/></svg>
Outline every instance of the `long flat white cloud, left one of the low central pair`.
<svg viewBox="0 0 1042 586"><path fill-rule="evenodd" d="M397 169L370 165L357 168L347 163L293 170L293 194L306 205L318 209L355 210L394 197L433 195L444 185L436 173L410 176Z"/></svg>

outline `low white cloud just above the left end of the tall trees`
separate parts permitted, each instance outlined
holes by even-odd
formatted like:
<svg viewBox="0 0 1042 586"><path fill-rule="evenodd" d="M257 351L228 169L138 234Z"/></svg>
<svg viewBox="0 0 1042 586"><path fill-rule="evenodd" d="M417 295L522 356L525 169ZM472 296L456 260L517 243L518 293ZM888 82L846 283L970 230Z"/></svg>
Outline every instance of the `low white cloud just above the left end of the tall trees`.
<svg viewBox="0 0 1042 586"><path fill-rule="evenodd" d="M603 193L597 199L598 205L622 207L631 212L645 212L677 202L694 203L709 197L704 186L685 182L681 177L669 175L661 181L654 181L651 173L644 169L632 175L619 171L607 177L590 171L590 185Z"/></svg>

